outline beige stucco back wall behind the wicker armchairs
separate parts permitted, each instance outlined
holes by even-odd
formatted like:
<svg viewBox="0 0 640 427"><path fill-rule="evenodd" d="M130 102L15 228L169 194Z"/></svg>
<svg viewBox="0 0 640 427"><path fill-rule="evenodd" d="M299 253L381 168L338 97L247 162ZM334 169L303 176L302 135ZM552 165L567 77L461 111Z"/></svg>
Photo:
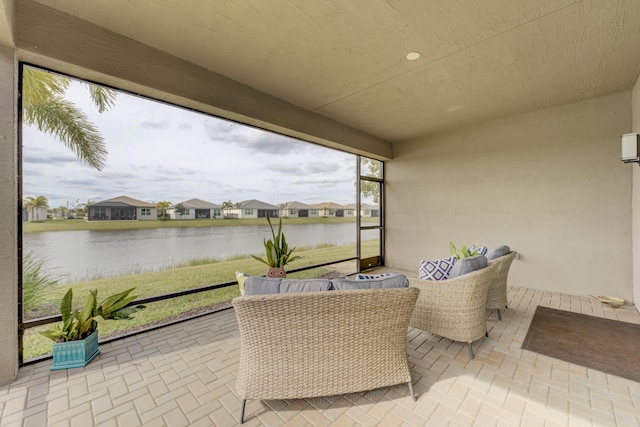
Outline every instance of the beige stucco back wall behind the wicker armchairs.
<svg viewBox="0 0 640 427"><path fill-rule="evenodd" d="M630 300L630 105L625 92L395 144L386 264L507 244L511 284Z"/></svg>

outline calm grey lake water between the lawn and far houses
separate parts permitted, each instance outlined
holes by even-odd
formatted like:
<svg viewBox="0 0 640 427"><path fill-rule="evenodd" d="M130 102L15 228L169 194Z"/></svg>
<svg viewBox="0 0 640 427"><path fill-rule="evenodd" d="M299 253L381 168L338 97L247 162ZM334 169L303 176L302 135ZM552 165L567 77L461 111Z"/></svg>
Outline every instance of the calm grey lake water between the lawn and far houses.
<svg viewBox="0 0 640 427"><path fill-rule="evenodd" d="M190 259L262 256L263 238L270 236L268 226L258 225L55 231L25 234L23 252L33 251L46 260L47 272L74 282L157 271ZM355 243L356 225L291 224L287 225L286 236L290 246L345 245Z"/></svg>

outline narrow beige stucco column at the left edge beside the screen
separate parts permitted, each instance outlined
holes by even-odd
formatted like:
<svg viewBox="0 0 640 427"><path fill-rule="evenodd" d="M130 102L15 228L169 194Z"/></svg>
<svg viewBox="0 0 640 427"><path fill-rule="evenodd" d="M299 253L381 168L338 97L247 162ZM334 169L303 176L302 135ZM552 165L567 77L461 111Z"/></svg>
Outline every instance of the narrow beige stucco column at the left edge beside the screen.
<svg viewBox="0 0 640 427"><path fill-rule="evenodd" d="M18 373L17 68L0 45L0 384Z"/></svg>

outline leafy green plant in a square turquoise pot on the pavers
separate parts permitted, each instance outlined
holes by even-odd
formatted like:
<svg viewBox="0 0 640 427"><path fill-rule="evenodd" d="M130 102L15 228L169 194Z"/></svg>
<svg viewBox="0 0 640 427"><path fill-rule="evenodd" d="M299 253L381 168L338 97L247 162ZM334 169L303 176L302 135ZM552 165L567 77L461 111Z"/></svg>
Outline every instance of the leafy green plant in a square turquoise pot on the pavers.
<svg viewBox="0 0 640 427"><path fill-rule="evenodd" d="M131 315L144 309L144 305L127 307L137 296L129 294L135 288L111 295L100 304L98 290L90 290L84 306L72 309L73 290L69 288L60 302L62 323L40 332L54 341L51 370L86 366L100 353L98 324L111 319L131 319Z"/></svg>

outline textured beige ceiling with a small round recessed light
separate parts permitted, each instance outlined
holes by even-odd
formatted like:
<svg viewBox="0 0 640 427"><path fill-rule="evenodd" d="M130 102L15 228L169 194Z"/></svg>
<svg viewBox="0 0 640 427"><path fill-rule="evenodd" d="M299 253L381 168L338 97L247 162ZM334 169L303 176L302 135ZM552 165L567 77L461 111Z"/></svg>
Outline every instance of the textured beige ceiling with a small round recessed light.
<svg viewBox="0 0 640 427"><path fill-rule="evenodd" d="M392 142L640 72L638 0L37 1Z"/></svg>

